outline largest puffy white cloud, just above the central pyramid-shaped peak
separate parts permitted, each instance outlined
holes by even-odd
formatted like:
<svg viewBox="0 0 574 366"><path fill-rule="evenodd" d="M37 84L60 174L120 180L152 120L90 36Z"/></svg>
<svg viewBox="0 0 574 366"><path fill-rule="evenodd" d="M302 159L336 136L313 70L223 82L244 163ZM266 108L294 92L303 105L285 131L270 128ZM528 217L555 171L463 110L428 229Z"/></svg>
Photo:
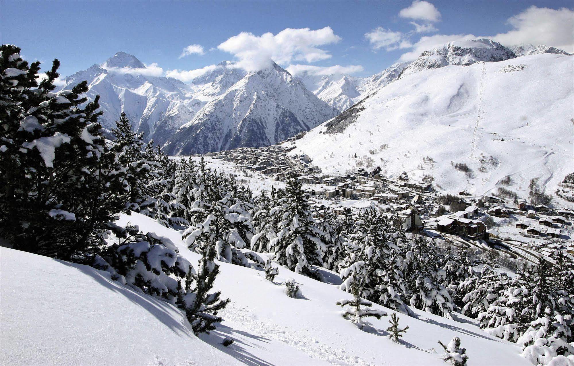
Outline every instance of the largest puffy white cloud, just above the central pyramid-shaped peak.
<svg viewBox="0 0 574 366"><path fill-rule="evenodd" d="M331 27L311 30L309 28L287 28L277 34L264 33L255 36L242 32L228 38L218 46L220 50L239 59L238 67L246 71L258 71L269 67L272 60L278 64L292 61L315 61L331 58L320 46L339 42L342 38L333 33Z"/></svg>

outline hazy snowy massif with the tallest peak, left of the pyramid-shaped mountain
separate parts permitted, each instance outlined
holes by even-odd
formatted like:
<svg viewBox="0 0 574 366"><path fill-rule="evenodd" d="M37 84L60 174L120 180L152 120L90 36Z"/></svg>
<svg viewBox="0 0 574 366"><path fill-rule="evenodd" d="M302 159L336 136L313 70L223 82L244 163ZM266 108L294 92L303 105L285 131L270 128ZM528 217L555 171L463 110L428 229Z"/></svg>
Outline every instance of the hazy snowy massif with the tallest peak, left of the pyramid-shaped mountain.
<svg viewBox="0 0 574 366"><path fill-rule="evenodd" d="M62 88L87 80L88 98L100 95L103 127L113 128L125 112L134 129L145 133L146 140L162 144L201 107L244 76L241 70L228 67L232 64L223 61L188 85L172 77L146 75L146 66L137 57L118 52L100 65L68 76Z"/></svg>

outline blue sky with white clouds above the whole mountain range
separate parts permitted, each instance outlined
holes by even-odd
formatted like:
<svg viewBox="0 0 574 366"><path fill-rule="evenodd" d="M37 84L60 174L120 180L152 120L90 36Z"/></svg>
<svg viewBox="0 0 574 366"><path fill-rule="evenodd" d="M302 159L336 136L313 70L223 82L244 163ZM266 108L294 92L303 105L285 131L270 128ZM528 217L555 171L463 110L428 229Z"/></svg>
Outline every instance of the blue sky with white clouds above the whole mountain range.
<svg viewBox="0 0 574 366"><path fill-rule="evenodd" d="M20 46L28 60L57 57L62 75L102 63L122 50L146 65L153 64L154 72L162 75L176 70L172 75L181 79L185 79L184 71L222 60L241 60L247 68L257 68L253 59L261 57L280 59L284 67L340 65L347 67L343 71L367 76L459 37L498 35L494 39L503 44L529 41L572 48L572 8L572 1L558 0L0 0L0 41ZM401 12L403 9L409 10ZM416 33L416 27L421 32ZM281 33L281 40L273 37L286 28L309 30ZM315 30L323 31L313 33ZM253 36L232 38L218 49L241 32ZM259 38L267 32L273 36ZM200 45L203 54L180 58L189 45Z"/></svg>

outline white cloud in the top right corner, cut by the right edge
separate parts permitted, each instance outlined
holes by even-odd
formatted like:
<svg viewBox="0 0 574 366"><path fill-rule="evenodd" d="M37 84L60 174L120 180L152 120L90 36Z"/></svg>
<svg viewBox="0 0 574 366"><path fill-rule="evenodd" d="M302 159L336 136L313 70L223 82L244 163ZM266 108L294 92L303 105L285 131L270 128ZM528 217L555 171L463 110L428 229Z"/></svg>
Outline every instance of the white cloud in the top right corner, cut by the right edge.
<svg viewBox="0 0 574 366"><path fill-rule="evenodd" d="M491 38L505 46L544 44L574 51L574 10L530 6L508 20L513 27Z"/></svg>

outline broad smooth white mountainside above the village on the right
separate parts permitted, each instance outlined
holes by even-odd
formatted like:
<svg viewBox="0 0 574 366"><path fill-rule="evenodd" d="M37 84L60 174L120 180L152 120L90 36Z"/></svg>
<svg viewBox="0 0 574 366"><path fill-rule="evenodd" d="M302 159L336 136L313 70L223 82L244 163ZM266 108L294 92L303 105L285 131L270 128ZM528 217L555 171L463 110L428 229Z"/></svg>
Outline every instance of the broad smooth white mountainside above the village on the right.
<svg viewBox="0 0 574 366"><path fill-rule="evenodd" d="M537 177L553 192L574 172L573 80L574 56L561 54L417 72L313 129L293 153L327 173L373 158L383 173L433 176L449 192L483 194L505 176L521 196Z"/></svg>

